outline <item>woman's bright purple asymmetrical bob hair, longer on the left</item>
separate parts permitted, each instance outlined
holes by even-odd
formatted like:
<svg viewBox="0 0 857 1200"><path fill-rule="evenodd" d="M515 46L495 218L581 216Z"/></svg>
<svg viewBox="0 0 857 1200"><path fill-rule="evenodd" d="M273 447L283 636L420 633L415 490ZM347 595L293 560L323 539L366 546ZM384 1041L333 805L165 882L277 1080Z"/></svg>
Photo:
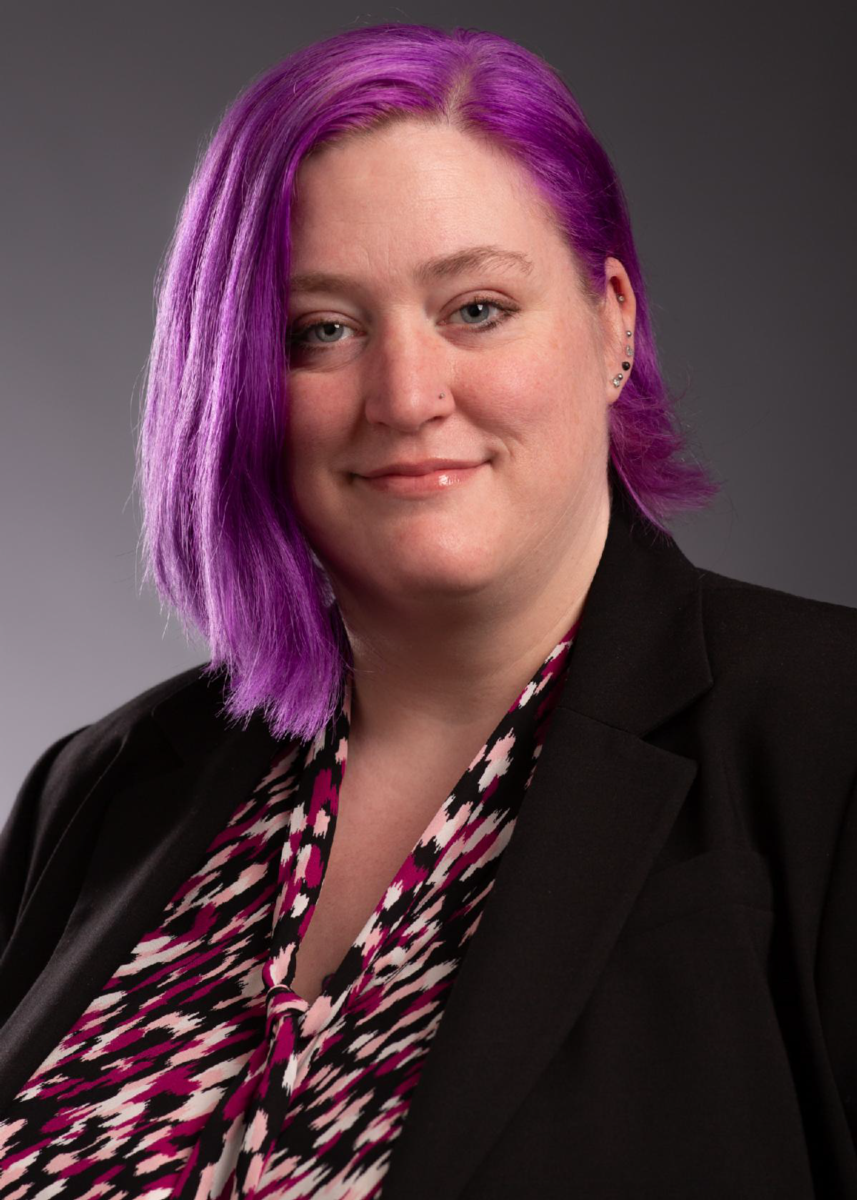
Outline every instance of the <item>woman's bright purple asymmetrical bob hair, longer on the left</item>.
<svg viewBox="0 0 857 1200"><path fill-rule="evenodd" d="M382 24L304 47L252 82L200 152L156 281L137 446L143 583L202 634L228 688L276 738L316 736L341 701L350 644L284 478L289 220L316 148L406 118L449 122L523 166L577 264L605 290L618 258L636 296L634 372L610 406L611 487L665 521L719 490L687 452L658 366L630 218L611 162L559 73L498 34ZM660 534L658 533L660 532Z"/></svg>

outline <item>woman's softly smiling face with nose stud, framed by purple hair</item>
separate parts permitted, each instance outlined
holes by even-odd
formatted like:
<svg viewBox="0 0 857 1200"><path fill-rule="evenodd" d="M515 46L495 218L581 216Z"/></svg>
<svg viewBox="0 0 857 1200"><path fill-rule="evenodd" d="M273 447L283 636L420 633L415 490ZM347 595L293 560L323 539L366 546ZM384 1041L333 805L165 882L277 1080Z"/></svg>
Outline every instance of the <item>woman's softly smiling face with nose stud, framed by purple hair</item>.
<svg viewBox="0 0 857 1200"><path fill-rule="evenodd" d="M484 246L515 257L427 270ZM607 265L629 294L622 265ZM298 174L299 275L340 277L290 292L286 450L335 590L499 596L532 587L537 557L550 570L571 553L606 503L627 317L615 294L599 310L583 298L520 168L445 125L325 146ZM426 458L480 466L424 479L436 486L419 494L365 478Z"/></svg>

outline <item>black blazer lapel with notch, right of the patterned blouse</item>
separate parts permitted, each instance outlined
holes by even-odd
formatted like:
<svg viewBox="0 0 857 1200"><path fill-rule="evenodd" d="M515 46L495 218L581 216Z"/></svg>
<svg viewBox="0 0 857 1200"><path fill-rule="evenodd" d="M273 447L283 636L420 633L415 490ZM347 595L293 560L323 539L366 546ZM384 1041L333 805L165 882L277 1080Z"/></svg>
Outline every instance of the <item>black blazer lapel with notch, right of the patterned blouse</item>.
<svg viewBox="0 0 857 1200"><path fill-rule="evenodd" d="M697 763L645 734L713 685L697 574L613 497L539 766L384 1182L454 1200L580 1018Z"/></svg>

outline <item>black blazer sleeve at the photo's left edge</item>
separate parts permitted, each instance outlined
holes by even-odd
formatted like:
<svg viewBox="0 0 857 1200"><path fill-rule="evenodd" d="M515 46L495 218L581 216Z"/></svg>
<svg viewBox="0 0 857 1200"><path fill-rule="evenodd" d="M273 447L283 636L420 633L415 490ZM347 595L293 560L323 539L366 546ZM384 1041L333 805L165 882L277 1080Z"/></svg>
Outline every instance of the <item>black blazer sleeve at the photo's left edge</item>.
<svg viewBox="0 0 857 1200"><path fill-rule="evenodd" d="M71 820L73 763L84 725L58 738L30 768L0 830L0 959L44 864Z"/></svg>

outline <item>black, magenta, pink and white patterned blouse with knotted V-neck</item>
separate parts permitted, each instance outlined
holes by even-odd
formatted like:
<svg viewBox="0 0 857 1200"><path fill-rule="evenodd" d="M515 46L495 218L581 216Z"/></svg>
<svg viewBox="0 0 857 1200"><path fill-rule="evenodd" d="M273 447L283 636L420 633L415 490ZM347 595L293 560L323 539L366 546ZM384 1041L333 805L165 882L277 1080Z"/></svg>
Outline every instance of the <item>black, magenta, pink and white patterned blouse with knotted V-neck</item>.
<svg viewBox="0 0 857 1200"><path fill-rule="evenodd" d="M336 830L352 686L284 743L0 1122L0 1200L380 1195L580 620L430 821L323 991L289 988Z"/></svg>

